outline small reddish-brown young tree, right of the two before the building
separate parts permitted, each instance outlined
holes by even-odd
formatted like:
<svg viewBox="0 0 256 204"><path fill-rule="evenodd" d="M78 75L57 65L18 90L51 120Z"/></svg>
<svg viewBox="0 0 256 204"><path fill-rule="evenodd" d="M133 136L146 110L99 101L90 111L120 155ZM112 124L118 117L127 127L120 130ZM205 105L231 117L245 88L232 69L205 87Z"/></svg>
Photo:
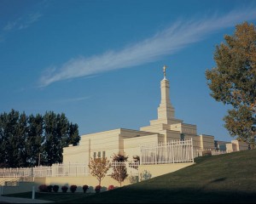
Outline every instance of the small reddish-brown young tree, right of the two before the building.
<svg viewBox="0 0 256 204"><path fill-rule="evenodd" d="M113 173L111 174L111 177L117 180L120 186L125 178L128 177L127 168L125 166L125 161L127 161L127 159L128 156L125 156L125 154L113 154Z"/></svg>

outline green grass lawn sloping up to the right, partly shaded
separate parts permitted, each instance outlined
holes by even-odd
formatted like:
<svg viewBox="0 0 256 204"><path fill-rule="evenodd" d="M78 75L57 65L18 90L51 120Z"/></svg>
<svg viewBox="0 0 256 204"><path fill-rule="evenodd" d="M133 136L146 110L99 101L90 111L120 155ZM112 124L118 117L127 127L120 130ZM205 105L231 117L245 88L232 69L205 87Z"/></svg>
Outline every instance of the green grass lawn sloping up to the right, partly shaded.
<svg viewBox="0 0 256 204"><path fill-rule="evenodd" d="M9 195L14 196L14 195ZM32 192L15 196L32 197ZM36 193L58 203L255 203L256 150L202 156L195 165L98 195Z"/></svg>

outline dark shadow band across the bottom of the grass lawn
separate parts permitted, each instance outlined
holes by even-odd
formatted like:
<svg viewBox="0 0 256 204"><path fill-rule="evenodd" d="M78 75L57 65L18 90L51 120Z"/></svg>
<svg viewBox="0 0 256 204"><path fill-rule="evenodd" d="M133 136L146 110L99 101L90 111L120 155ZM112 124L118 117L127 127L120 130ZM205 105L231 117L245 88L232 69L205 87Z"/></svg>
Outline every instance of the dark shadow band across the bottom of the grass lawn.
<svg viewBox="0 0 256 204"><path fill-rule="evenodd" d="M15 196L31 198L31 195L32 192L27 192L16 194ZM228 190L201 190L197 188L177 190L120 188L97 195L84 193L36 193L36 199L55 201L56 203L255 203L256 194Z"/></svg>

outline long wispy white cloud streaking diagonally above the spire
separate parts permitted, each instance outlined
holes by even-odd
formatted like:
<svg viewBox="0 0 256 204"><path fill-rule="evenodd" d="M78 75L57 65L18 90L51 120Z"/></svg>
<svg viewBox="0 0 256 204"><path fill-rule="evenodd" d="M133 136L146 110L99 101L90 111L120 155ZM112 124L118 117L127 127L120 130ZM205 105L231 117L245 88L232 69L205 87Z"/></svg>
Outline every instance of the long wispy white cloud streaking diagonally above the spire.
<svg viewBox="0 0 256 204"><path fill-rule="evenodd" d="M214 14L211 18L201 20L178 20L172 26L156 33L154 37L123 49L91 57L80 56L69 59L59 67L53 66L41 76L40 87L65 79L143 65L167 54L174 54L190 43L201 41L214 31L235 26L243 20L254 19L256 19L256 8L241 8L229 14L222 16Z"/></svg>

